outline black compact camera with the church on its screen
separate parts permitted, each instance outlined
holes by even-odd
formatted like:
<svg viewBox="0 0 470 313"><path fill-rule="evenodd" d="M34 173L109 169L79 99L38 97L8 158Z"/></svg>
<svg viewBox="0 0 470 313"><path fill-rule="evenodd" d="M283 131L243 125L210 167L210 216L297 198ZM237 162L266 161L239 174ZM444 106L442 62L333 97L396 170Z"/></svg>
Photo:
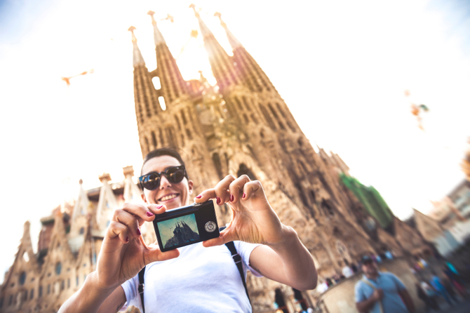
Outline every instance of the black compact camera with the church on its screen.
<svg viewBox="0 0 470 313"><path fill-rule="evenodd" d="M155 215L154 229L163 252L220 236L212 200Z"/></svg>

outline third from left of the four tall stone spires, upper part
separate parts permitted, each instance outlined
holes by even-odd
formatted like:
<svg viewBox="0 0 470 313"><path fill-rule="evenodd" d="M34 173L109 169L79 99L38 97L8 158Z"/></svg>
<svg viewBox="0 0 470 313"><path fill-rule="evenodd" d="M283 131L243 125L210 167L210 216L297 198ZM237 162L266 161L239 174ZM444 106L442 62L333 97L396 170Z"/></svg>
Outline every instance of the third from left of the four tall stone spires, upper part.
<svg viewBox="0 0 470 313"><path fill-rule="evenodd" d="M212 68L212 72L217 80L217 85L219 86L220 91L224 93L229 86L234 86L241 82L236 64L234 63L233 58L231 58L224 48L220 46L217 39L215 39L214 34L210 32L210 29L206 26L206 23L203 22L201 15L196 11L196 6L192 4L189 8L194 10L194 15L199 22L199 28L201 29L201 34L203 36L210 67Z"/></svg>

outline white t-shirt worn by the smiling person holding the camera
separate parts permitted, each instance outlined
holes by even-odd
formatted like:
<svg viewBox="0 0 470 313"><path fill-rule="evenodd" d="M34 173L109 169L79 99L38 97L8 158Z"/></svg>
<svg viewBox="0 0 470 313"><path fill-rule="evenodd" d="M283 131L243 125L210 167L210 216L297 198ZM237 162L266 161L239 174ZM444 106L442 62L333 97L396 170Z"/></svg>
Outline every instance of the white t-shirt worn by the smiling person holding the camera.
<svg viewBox="0 0 470 313"><path fill-rule="evenodd" d="M257 244L234 241L242 259L243 273ZM202 243L179 248L180 256L147 265L144 275L145 313L154 312L251 312L239 269L227 246L204 248ZM133 305L142 312L138 275L121 285L126 293L125 310Z"/></svg>

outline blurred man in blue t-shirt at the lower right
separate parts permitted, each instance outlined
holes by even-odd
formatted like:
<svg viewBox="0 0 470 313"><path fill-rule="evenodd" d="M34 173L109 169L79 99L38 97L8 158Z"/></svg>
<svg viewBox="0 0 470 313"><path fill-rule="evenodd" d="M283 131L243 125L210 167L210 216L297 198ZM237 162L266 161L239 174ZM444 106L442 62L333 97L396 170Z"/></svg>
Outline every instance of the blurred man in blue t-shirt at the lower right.
<svg viewBox="0 0 470 313"><path fill-rule="evenodd" d="M361 259L363 278L354 286L356 308L359 312L415 312L415 305L403 282L394 274L379 272L377 265L365 255Z"/></svg>

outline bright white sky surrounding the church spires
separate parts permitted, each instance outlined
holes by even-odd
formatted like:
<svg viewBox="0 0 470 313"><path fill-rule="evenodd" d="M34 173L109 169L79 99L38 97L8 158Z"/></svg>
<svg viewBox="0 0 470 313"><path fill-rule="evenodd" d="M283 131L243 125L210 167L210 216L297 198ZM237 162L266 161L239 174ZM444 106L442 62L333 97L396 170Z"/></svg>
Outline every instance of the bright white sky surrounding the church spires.
<svg viewBox="0 0 470 313"><path fill-rule="evenodd" d="M130 25L156 67L147 11L184 79L214 84L191 1L0 0L0 269L13 262L22 225L98 175L123 180L142 155L133 100ZM464 179L470 136L470 5L462 0L197 1L230 53L231 32L267 73L312 144L340 154L398 218L424 213ZM182 48L184 47L184 51ZM182 53L181 53L182 51ZM62 76L93 69L71 79ZM410 95L405 97L405 90ZM424 104L424 131L410 103ZM0 281L3 277L0 277Z"/></svg>

